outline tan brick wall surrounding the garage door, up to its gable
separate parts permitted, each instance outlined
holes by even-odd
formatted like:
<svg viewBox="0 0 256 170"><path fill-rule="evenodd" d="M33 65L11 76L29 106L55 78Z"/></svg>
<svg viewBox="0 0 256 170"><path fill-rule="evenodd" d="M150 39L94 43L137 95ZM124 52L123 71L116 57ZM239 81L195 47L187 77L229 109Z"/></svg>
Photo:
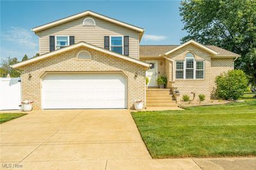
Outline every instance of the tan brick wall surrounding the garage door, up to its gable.
<svg viewBox="0 0 256 170"><path fill-rule="evenodd" d="M90 52L92 59L77 60L76 55L81 50ZM90 48L79 47L20 67L20 69L22 70L22 101L25 99L34 101L35 110L41 109L41 80L48 72L122 72L127 76L128 108L133 108L134 100L145 101L145 67ZM29 73L31 78L29 78Z"/></svg>

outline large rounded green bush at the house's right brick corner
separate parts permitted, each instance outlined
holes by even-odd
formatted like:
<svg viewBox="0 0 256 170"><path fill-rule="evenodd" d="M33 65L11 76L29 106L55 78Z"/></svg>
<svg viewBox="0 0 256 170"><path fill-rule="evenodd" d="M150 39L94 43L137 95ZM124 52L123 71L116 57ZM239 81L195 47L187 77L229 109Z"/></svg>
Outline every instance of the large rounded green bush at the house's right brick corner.
<svg viewBox="0 0 256 170"><path fill-rule="evenodd" d="M216 95L225 100L237 100L243 96L248 85L246 74L241 70L231 70L216 77Z"/></svg>

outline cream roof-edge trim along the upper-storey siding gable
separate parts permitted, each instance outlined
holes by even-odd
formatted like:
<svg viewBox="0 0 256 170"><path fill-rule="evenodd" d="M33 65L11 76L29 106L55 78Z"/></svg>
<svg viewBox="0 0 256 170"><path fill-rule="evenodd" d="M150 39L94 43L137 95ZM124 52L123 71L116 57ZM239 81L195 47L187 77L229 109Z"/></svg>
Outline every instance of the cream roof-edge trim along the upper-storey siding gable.
<svg viewBox="0 0 256 170"><path fill-rule="evenodd" d="M145 31L145 29L143 29L141 27L136 27L135 25L127 24L127 23L122 22L120 20L116 20L114 18L106 17L105 15L101 15L99 13L95 13L94 11L90 11L90 10L83 11L83 12L77 13L75 15L71 15L70 17L61 18L60 20L49 22L47 24L40 25L38 27L34 27L33 29L31 29L31 31L34 31L34 32L42 31L44 29L48 29L49 27L54 27L56 25L60 25L60 24L63 24L65 22L69 22L69 21L75 20L77 18L85 17L87 15L91 15L93 17L100 18L102 20L106 20L108 22L112 22L114 24L121 25L123 27L127 27L129 29L134 30L134 31L141 32L141 34L143 34L143 32Z"/></svg>

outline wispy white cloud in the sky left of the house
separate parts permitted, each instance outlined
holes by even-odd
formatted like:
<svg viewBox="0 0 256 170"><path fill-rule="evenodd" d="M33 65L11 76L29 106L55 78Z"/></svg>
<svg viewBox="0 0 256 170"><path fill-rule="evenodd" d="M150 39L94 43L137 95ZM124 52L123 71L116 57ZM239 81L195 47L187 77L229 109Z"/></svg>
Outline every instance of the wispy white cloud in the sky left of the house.
<svg viewBox="0 0 256 170"><path fill-rule="evenodd" d="M22 27L10 27L8 31L1 33L1 38L18 43L20 46L35 48L38 45L33 33Z"/></svg>

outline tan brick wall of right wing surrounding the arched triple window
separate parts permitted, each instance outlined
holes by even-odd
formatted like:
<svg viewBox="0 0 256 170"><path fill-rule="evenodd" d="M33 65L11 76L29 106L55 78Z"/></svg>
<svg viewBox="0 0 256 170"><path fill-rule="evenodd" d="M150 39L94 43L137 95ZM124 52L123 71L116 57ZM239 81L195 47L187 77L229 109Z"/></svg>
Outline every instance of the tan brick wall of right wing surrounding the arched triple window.
<svg viewBox="0 0 256 170"><path fill-rule="evenodd" d="M216 87L214 81L216 76L220 75L223 72L234 69L234 59L214 59L211 54L205 52L201 48L198 48L195 45L187 45L179 50L171 53L168 58L172 60L184 60L186 53L191 52L195 55L195 60L204 60L205 61L205 78L200 80L172 80L172 62L166 60L166 73L168 73L168 87L174 87L179 90L180 98L184 94L188 94L190 99L193 99L193 94L195 92L195 99L198 99L199 94L204 94L206 99L211 99L212 92ZM175 64L175 63L174 63ZM174 65L175 67L175 65ZM175 75L175 74L174 74Z"/></svg>

